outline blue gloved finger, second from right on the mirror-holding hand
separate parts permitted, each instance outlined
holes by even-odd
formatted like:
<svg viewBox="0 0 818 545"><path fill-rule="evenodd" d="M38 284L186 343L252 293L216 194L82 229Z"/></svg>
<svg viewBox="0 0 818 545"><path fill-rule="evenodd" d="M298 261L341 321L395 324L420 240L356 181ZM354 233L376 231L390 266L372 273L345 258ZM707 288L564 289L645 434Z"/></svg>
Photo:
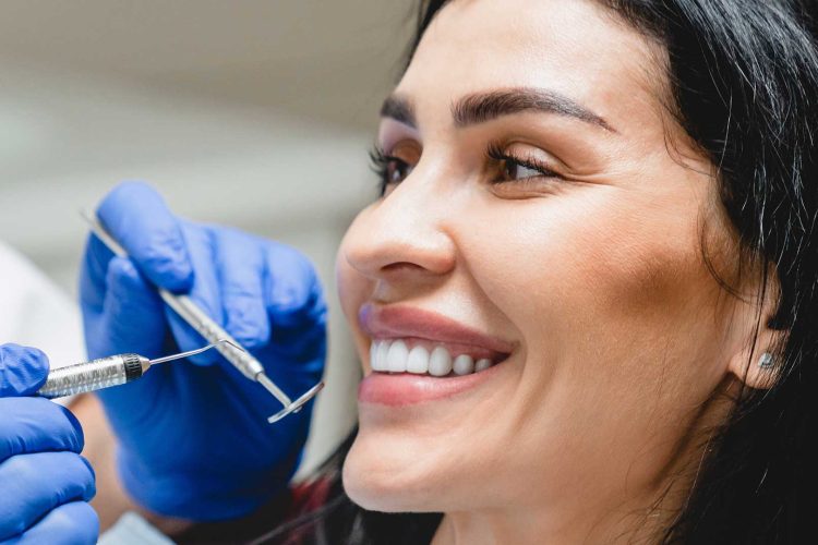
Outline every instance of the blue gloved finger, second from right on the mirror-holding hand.
<svg viewBox="0 0 818 545"><path fill-rule="evenodd" d="M269 340L263 242L232 229L219 228L213 233L225 329L244 348L261 348Z"/></svg>

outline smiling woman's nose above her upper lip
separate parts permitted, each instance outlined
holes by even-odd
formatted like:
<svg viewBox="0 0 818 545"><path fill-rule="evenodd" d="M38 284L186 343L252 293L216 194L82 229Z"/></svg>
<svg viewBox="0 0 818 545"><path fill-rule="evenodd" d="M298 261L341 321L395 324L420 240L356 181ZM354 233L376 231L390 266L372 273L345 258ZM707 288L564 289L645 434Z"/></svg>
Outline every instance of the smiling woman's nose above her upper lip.
<svg viewBox="0 0 818 545"><path fill-rule="evenodd" d="M353 221L345 257L360 274L394 279L443 276L454 269L456 244L446 225L454 210L435 192L436 184L421 175L412 172Z"/></svg>

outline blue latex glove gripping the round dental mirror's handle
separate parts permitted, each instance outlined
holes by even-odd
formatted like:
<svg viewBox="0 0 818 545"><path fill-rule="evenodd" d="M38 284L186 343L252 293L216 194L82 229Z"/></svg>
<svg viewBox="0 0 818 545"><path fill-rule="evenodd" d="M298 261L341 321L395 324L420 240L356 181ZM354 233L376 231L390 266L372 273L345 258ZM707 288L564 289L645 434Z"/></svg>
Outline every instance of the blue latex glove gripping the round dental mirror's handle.
<svg viewBox="0 0 818 545"><path fill-rule="evenodd" d="M322 376L326 307L310 263L294 250L173 216L143 183L123 183L97 215L131 256L88 239L81 279L92 358L157 358L206 344L154 286L189 293L296 398ZM237 518L280 493L306 440L312 403L281 409L217 352L161 364L98 392L119 437L118 469L144 507L192 520Z"/></svg>

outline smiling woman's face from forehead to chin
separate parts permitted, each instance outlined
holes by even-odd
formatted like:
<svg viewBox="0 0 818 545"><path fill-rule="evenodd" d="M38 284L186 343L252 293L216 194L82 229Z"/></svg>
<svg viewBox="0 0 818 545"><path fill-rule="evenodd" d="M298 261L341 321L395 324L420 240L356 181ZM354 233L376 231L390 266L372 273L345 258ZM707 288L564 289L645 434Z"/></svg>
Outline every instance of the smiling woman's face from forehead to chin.
<svg viewBox="0 0 818 545"><path fill-rule="evenodd" d="M338 257L365 375L353 500L569 523L678 467L731 308L701 256L712 166L662 106L662 62L592 2L433 21L383 110L385 194Z"/></svg>

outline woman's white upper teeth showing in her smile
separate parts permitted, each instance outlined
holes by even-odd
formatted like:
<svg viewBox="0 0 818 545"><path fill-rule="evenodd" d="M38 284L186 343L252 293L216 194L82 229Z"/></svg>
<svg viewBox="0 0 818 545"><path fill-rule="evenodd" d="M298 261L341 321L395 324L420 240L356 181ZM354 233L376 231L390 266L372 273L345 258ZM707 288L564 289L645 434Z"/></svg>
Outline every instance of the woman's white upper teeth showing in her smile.
<svg viewBox="0 0 818 545"><path fill-rule="evenodd" d="M489 359L477 362L469 354L452 353L443 346L436 346L430 353L420 344L409 349L402 340L376 340L370 348L370 366L372 371L385 373L414 373L417 375L446 376L454 371L455 375L479 373L492 366Z"/></svg>

